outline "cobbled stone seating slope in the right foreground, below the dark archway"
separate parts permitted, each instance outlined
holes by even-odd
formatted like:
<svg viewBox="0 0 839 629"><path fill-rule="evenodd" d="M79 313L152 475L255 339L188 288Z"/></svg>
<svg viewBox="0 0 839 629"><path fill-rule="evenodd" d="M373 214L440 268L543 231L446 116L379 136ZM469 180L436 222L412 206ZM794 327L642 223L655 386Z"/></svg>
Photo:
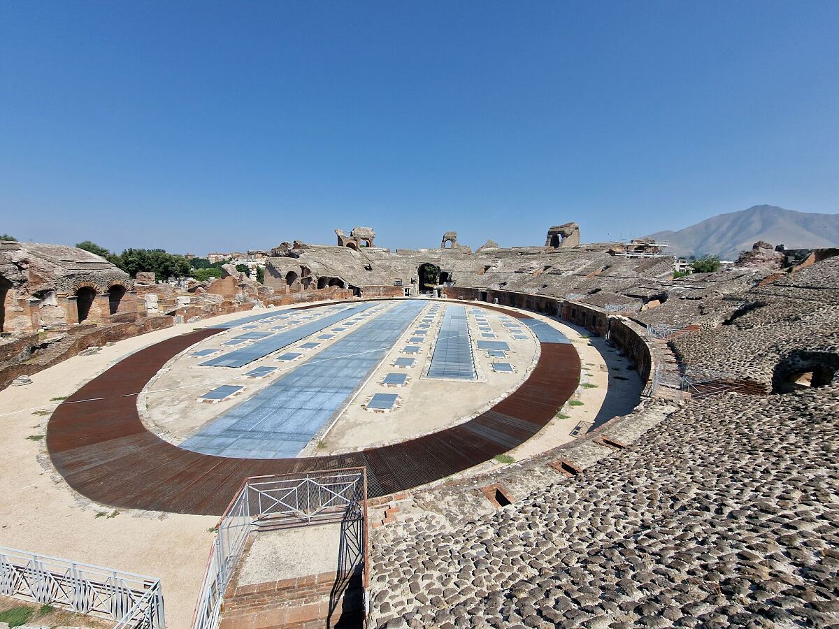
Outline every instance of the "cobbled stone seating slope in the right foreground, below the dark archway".
<svg viewBox="0 0 839 629"><path fill-rule="evenodd" d="M491 515L373 539L372 626L831 626L839 382L686 404Z"/></svg>

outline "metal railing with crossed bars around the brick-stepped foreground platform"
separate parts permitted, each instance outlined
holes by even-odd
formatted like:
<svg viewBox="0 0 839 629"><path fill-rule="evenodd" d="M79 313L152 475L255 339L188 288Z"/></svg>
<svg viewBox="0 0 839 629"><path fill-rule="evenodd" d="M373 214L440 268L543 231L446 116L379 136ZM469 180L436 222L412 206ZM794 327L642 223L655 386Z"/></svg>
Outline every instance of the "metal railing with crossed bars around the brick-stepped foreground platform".
<svg viewBox="0 0 839 629"><path fill-rule="evenodd" d="M218 626L227 585L253 529L340 522L347 518L366 523L366 500L367 477L363 468L245 479L218 524L195 607L194 629ZM366 535L363 544L366 590Z"/></svg>

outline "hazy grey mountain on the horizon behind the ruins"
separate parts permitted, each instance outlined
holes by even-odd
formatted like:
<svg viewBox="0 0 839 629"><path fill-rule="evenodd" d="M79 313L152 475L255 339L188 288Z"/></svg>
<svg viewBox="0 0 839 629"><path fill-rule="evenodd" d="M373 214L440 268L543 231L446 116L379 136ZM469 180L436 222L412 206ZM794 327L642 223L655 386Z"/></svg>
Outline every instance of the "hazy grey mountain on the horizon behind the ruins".
<svg viewBox="0 0 839 629"><path fill-rule="evenodd" d="M807 214L774 205L754 205L720 214L679 231L656 231L650 237L670 241L677 256L736 260L758 240L788 248L839 247L839 214Z"/></svg>

